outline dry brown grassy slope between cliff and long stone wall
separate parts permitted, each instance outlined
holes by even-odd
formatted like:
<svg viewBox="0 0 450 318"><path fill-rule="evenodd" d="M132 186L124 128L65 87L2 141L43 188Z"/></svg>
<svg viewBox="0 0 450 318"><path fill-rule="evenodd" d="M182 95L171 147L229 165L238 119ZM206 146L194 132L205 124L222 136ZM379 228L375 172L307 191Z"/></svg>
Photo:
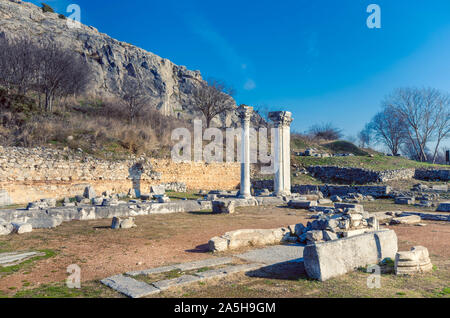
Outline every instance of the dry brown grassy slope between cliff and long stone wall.
<svg viewBox="0 0 450 318"><path fill-rule="evenodd" d="M129 154L166 157L171 131L186 122L154 110L128 121L117 101L67 100L53 112L42 110L33 95L0 89L0 143L9 146L52 146L82 150L98 157Z"/></svg>

